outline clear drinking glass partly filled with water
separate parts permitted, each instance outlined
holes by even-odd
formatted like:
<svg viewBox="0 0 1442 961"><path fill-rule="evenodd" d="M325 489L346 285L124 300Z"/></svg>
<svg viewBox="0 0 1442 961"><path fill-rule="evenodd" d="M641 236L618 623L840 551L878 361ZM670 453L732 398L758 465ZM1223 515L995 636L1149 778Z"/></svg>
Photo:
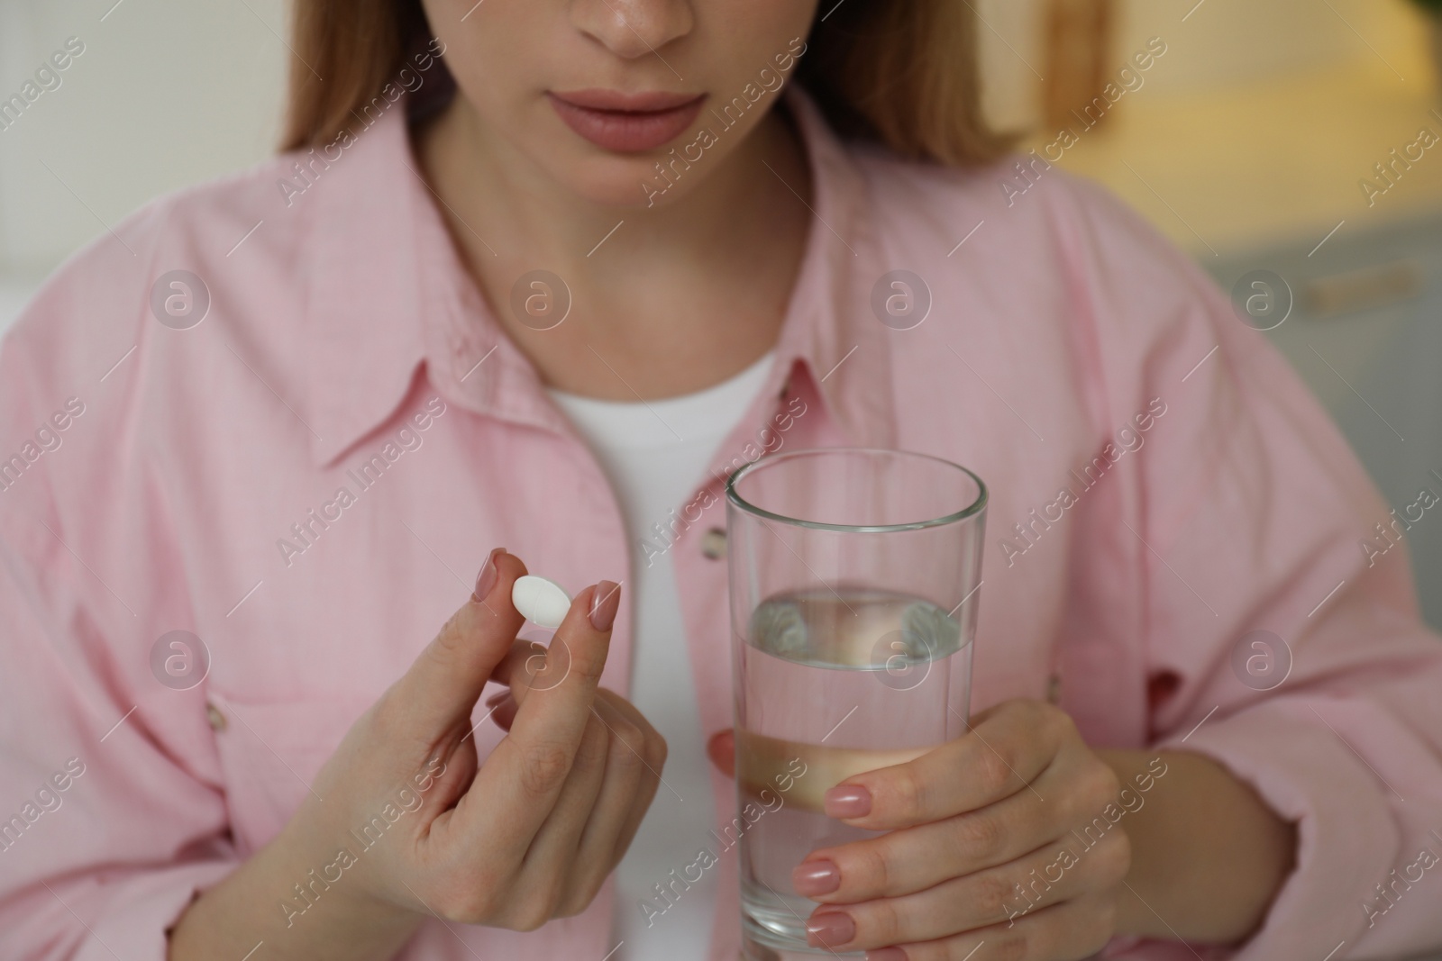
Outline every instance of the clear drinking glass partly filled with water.
<svg viewBox="0 0 1442 961"><path fill-rule="evenodd" d="M986 487L906 451L773 454L727 481L741 926L753 961L806 945L792 869L875 837L826 817L839 781L966 730ZM838 957L862 957L841 954Z"/></svg>

